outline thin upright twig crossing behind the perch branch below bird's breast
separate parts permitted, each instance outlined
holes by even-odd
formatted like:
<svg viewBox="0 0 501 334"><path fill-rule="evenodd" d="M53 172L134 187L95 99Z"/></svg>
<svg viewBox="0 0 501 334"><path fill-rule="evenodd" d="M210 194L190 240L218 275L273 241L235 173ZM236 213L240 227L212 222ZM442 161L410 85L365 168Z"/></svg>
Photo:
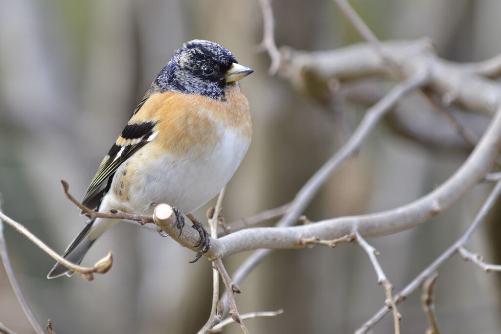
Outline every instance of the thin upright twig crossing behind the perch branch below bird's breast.
<svg viewBox="0 0 501 334"><path fill-rule="evenodd" d="M217 239L217 225L219 221L219 215L222 210L222 201L224 198L224 193L226 192L226 186L224 186L217 196L216 206L212 212L212 217L208 217L208 223L210 226L210 237L212 239ZM207 333L214 325L218 324L222 317L223 305L219 301L219 273L216 268L212 268L212 305L210 308L210 315L207 322L198 331L199 334Z"/></svg>

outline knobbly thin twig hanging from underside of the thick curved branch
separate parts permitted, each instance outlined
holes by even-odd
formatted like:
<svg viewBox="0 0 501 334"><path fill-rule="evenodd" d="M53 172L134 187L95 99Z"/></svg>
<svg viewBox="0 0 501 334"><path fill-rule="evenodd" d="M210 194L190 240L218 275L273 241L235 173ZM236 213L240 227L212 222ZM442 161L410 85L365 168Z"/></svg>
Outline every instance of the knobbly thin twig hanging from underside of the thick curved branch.
<svg viewBox="0 0 501 334"><path fill-rule="evenodd" d="M371 246L358 232L358 230L355 230L355 238L357 240L357 243L365 250L367 255L369 255L369 259L371 260L372 266L374 267L374 270L376 271L377 274L377 282L378 284L382 284L384 287L384 292L386 295L386 304L388 307L391 307L393 311L393 324L394 324L394 329L395 329L395 334L400 334L400 318L401 315L398 313L397 310L397 305L395 301L393 300L393 285L390 283L388 278L386 277L383 268L381 267L381 264L379 263L377 259L377 255L379 255L379 252Z"/></svg>

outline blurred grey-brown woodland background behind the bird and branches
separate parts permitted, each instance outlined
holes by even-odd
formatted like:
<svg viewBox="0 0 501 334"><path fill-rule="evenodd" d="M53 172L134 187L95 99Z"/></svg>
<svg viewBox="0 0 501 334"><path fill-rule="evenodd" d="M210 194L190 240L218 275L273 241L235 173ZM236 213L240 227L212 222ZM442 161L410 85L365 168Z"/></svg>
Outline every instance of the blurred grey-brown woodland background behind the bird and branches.
<svg viewBox="0 0 501 334"><path fill-rule="evenodd" d="M501 3L466 0L351 2L382 40L432 38L441 57L478 61L501 52ZM328 0L273 2L277 45L327 50L361 41ZM286 82L268 75L256 52L263 20L258 0L1 0L0 192L4 211L62 252L85 222L64 198L60 179L81 198L112 142L151 81L183 42L206 39L230 50L256 73L241 82L252 111L253 143L228 185L230 222L289 202L342 145L335 117ZM411 112L429 105L415 104ZM354 128L365 108L346 106ZM487 123L478 120L477 128ZM306 214L312 221L376 212L408 203L443 182L467 151L423 147L382 124L356 159L346 162ZM489 190L477 186L436 219L412 230L369 239L389 280L400 290L464 231ZM209 202L195 216L202 219ZM494 214L491 217L496 222ZM498 219L497 219L498 220ZM192 333L206 321L211 265L189 264L194 253L137 224L120 223L92 248L92 265L111 250L110 272L86 282L78 276L47 280L54 261L6 226L17 278L39 321L58 333ZM484 224L470 249L489 262L499 237ZM249 253L225 259L231 273ZM443 332L496 333L499 274L486 274L458 256L440 269L435 308ZM283 308L275 318L246 320L250 332L348 333L384 303L364 251L275 251L240 285L240 313ZM420 293L399 305L403 332L422 333L427 318ZM3 270L0 321L31 333ZM392 332L391 316L374 333ZM241 332L231 324L227 333Z"/></svg>

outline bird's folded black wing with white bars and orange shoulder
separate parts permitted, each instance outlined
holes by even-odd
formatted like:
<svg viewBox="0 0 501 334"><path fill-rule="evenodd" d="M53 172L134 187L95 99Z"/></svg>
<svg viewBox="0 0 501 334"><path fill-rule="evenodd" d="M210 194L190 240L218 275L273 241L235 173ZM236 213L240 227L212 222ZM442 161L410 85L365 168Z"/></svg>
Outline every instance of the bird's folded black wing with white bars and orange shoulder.
<svg viewBox="0 0 501 334"><path fill-rule="evenodd" d="M168 93L158 93L153 89L148 91L134 110L117 141L101 162L85 193L82 204L91 209L97 208L104 194L109 190L112 176L117 168L137 150L154 139L156 125L154 116L162 105L162 100L165 101L164 99L169 98Z"/></svg>

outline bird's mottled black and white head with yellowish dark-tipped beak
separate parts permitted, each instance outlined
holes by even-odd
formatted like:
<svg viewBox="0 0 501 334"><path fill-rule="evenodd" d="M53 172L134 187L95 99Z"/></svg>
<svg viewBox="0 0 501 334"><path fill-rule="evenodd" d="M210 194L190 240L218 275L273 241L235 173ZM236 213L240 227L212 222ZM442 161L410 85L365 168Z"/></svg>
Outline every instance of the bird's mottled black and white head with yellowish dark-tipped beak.
<svg viewBox="0 0 501 334"><path fill-rule="evenodd" d="M219 44L193 40L184 43L160 72L155 83L161 91L198 94L224 99L224 88L253 73Z"/></svg>

